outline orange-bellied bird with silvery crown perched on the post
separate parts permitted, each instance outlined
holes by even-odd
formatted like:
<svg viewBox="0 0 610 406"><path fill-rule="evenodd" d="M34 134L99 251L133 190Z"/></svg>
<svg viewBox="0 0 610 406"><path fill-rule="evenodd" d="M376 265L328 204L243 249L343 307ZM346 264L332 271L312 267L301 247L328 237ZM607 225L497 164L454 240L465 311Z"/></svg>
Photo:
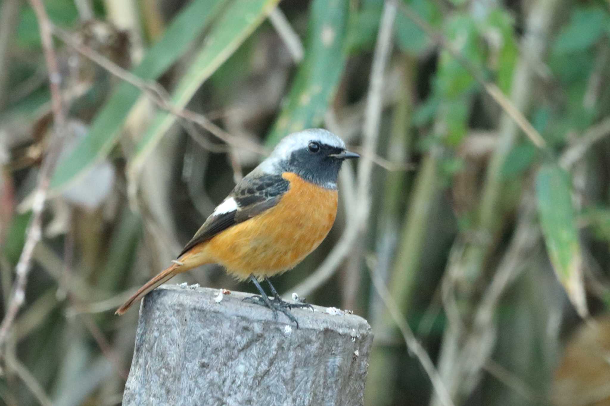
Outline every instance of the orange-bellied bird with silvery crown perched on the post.
<svg viewBox="0 0 610 406"><path fill-rule="evenodd" d="M274 317L284 313L298 328L289 310L311 306L283 301L269 277L294 268L326 238L337 215L339 170L351 158L359 155L331 131L310 128L285 136L235 185L170 267L146 282L116 314L179 273L220 264L239 281L254 283L260 296L251 296L253 303L273 310Z"/></svg>

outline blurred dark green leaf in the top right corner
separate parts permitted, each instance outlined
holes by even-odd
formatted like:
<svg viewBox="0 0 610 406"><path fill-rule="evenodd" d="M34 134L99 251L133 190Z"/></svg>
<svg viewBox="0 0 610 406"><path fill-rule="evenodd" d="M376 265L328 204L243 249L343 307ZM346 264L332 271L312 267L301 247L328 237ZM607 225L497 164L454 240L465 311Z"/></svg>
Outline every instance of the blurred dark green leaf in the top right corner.
<svg viewBox="0 0 610 406"><path fill-rule="evenodd" d="M554 53L569 54L592 46L604 33L607 20L608 13L601 7L575 10L570 23L559 32L553 47Z"/></svg>

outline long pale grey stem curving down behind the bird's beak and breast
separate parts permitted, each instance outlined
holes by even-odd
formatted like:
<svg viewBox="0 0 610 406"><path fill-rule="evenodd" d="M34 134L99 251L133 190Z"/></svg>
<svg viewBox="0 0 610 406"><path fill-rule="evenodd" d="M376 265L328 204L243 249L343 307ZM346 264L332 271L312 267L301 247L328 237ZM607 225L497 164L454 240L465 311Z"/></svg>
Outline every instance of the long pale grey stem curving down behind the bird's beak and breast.
<svg viewBox="0 0 610 406"><path fill-rule="evenodd" d="M299 295L309 295L310 292L320 287L337 271L343 259L350 253L354 244L357 243L370 212L370 182L373 171L373 159L379 138L379 121L381 118L384 72L392 49L392 26L397 13L397 1L386 0L384 10L379 24L377 43L373 54L373 66L371 68L371 80L369 83L367 110L364 119L364 146L358 166L358 189L353 197L346 196L346 201L356 201L356 206L347 216L348 223L343 231L339 242L332 248L324 262L307 279L293 287L291 292ZM331 128L332 130L332 128ZM343 170L345 172L345 170ZM343 182L342 182L343 183Z"/></svg>

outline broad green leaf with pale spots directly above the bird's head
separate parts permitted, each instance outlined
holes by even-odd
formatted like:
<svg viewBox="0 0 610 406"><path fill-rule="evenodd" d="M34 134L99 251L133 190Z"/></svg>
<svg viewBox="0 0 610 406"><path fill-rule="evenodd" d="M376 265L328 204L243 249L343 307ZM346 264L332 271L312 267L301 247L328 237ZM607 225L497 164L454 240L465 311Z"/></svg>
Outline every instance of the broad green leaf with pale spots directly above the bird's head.
<svg viewBox="0 0 610 406"><path fill-rule="evenodd" d="M350 2L345 0L312 3L305 58L267 145L322 122L345 66L349 10Z"/></svg>

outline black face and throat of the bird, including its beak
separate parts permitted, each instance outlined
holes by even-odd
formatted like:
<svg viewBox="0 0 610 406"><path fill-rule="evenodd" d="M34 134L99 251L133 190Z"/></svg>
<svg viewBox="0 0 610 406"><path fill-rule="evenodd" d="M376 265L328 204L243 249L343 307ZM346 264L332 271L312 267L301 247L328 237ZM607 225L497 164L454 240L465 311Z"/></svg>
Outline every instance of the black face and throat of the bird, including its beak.
<svg viewBox="0 0 610 406"><path fill-rule="evenodd" d="M337 176L343 160L357 156L332 156L344 152L343 148L312 141L306 148L293 152L282 169L286 172L294 172L304 180L326 189L337 189Z"/></svg>

